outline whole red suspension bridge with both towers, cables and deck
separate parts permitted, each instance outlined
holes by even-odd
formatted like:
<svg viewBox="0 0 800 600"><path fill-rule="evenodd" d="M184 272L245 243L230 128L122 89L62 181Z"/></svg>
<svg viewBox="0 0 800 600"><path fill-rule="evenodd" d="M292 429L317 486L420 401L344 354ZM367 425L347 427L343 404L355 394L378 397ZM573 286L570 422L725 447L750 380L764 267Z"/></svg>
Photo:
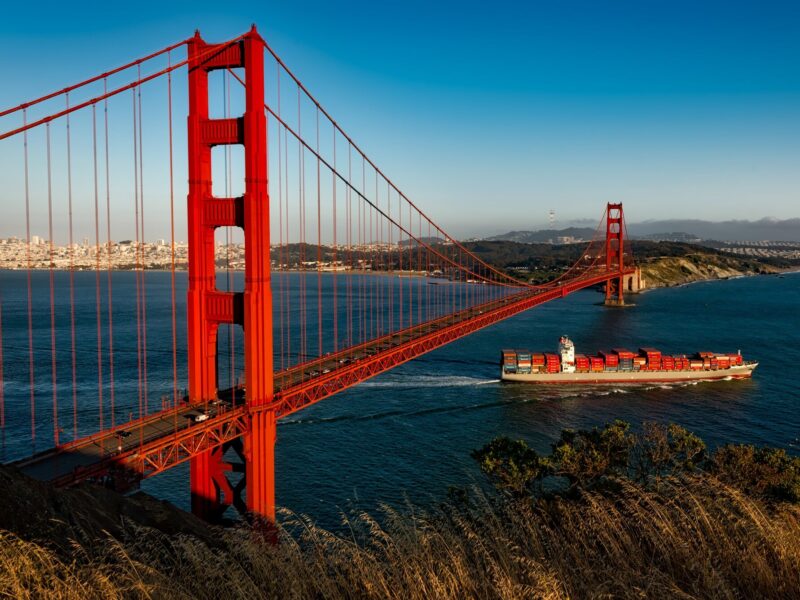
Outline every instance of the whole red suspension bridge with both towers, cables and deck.
<svg viewBox="0 0 800 600"><path fill-rule="evenodd" d="M221 107L211 92L216 75ZM179 78L188 115L186 139L176 142L178 132L183 137L174 116ZM237 97L243 112L232 114ZM15 307L26 326L13 342L23 360L4 359L8 294L0 295L0 425L5 434L6 391L24 388L28 406L13 411L29 419L32 451L13 464L59 486L96 481L126 489L188 461L196 514L213 519L234 506L274 519L279 419L578 290L604 284L606 302L622 303L633 273L621 204L607 205L578 261L546 284L487 264L370 160L255 27L220 44L196 33L4 110L0 132L6 193L14 195L4 220L26 232L17 265L23 300ZM176 159L184 144L185 165ZM234 148L243 151L240 194L232 192ZM185 334L176 291L182 179ZM170 293L158 305L148 292L145 214L169 221L162 247ZM44 245L31 233L37 218L47 222ZM76 283L84 268L78 224L93 233L80 250L92 260L90 285ZM240 290L231 289L230 263L220 263L222 230L243 236ZM124 261L112 237L120 232L134 238ZM37 252L47 257L44 279L36 276ZM57 259L66 261L66 280L56 276ZM133 272L135 298L126 301L134 314L115 300L122 263ZM155 314L170 323L156 335L148 328ZM130 341L122 341L124 327L136 345L135 362L127 363L134 389L120 384L129 375L121 353L132 352L121 345ZM239 337L222 340L224 328L240 328ZM171 381L153 380L154 360L171 360ZM10 369L27 381L6 381ZM86 370L96 373L91 393L78 383ZM36 450L37 439L45 450ZM243 476L231 479L232 472Z"/></svg>

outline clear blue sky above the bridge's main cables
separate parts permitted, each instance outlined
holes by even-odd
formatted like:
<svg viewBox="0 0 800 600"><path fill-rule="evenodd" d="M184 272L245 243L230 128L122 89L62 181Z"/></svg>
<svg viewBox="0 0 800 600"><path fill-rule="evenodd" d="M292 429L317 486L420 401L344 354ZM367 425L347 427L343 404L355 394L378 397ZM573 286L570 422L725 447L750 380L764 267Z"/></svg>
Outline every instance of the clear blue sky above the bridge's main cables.
<svg viewBox="0 0 800 600"><path fill-rule="evenodd" d="M800 2L15 2L0 106L256 23L457 236L800 216Z"/></svg>

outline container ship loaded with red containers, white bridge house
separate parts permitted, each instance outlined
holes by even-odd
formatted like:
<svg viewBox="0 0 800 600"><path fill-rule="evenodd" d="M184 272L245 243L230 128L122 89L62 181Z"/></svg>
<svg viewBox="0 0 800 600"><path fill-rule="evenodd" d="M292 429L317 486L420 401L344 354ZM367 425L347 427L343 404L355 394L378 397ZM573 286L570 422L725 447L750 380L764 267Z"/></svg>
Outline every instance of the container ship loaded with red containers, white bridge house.
<svg viewBox="0 0 800 600"><path fill-rule="evenodd" d="M567 336L559 340L557 353L503 350L500 361L503 381L556 384L745 379L758 366L755 361L743 360L741 352L673 356L655 348L639 348L638 353L615 348L595 356L576 354L575 345Z"/></svg>

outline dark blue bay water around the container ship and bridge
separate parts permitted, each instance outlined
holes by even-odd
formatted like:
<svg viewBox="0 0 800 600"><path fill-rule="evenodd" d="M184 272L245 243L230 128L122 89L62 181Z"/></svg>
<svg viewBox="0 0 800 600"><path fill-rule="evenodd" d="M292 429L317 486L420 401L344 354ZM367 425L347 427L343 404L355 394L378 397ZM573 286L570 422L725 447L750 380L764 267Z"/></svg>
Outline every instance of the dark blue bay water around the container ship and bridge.
<svg viewBox="0 0 800 600"><path fill-rule="evenodd" d="M59 419L71 431L70 323L64 312L66 273L56 273ZM4 462L52 443L47 272L32 273L37 446L31 445L27 286L24 272L0 272L3 327ZM105 275L103 275L105 277ZM147 273L148 381L151 395L172 387L169 273ZM133 273L114 274L115 393L117 419L135 411L138 370ZM186 275L176 275L178 351L185 363ZM81 433L96 423L96 291L94 273L74 275L77 398ZM101 305L107 302L100 290ZM430 505L450 486L481 475L470 451L498 435L525 439L540 452L564 428L624 419L675 422L710 446L726 442L784 448L800 454L800 275L700 282L629 296L635 306L600 305L594 290L578 292L497 323L363 382L278 425L278 504L336 527L342 512L374 512L382 503ZM58 312L60 311L60 312ZM102 319L107 314L102 313ZM85 329L84 329L85 328ZM561 387L501 383L502 348L555 351L569 335L579 353L612 347L656 347L665 353L735 352L760 362L752 380L676 385ZM107 353L108 340L102 352ZM104 365L108 378L108 365ZM185 371L179 367L179 378ZM183 385L183 384L182 384ZM95 390L92 392L92 390ZM104 394L108 402L108 390ZM66 408L64 407L66 405ZM86 418L84 418L86 417ZM107 417L108 418L108 417ZM68 434L67 439L69 438ZM143 483L157 497L188 508L188 466Z"/></svg>

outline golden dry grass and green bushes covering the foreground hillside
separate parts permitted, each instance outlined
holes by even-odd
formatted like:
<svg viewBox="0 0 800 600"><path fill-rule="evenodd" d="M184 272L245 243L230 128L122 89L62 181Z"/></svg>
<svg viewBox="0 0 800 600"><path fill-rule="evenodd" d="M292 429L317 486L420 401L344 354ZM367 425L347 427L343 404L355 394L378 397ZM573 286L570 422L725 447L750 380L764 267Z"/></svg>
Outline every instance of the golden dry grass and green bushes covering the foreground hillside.
<svg viewBox="0 0 800 600"><path fill-rule="evenodd" d="M283 514L205 541L127 520L72 545L0 534L14 598L793 598L800 465L781 451L708 454L676 426L564 432L549 456L500 438L476 451L499 493L385 509L346 533ZM758 485L754 485L757 483ZM795 502L791 500L794 499Z"/></svg>

